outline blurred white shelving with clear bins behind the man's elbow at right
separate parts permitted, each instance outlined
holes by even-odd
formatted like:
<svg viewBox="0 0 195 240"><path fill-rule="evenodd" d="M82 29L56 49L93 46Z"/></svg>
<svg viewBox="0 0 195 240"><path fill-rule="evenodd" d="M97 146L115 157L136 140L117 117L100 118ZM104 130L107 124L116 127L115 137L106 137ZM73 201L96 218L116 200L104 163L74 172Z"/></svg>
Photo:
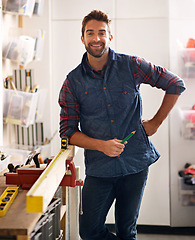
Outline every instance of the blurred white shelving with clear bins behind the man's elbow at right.
<svg viewBox="0 0 195 240"><path fill-rule="evenodd" d="M195 164L195 48L178 51L178 72L186 91L170 115L171 225L195 226L195 185L188 185L179 171Z"/></svg>

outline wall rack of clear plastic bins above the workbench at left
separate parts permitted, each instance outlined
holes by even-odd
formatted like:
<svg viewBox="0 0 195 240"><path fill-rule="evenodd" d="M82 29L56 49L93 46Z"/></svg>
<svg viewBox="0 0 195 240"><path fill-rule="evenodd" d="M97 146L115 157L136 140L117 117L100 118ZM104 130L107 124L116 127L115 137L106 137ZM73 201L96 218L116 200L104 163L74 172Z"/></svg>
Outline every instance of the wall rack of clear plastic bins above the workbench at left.
<svg viewBox="0 0 195 240"><path fill-rule="evenodd" d="M37 5L40 2L42 1L37 1ZM44 31L30 28L27 31L23 28L24 16L32 16L35 1L22 2L23 6L26 7L23 13L19 10L21 6L17 4L18 2L15 4L15 10L16 8L17 10L14 12L7 8L8 5L10 6L8 0L4 1L3 4L4 14L13 14L18 24L15 28L13 27L12 33L9 33L12 37L10 36L11 38L6 39L6 41L10 42L4 43L3 48L4 64L8 61L11 64L9 70L11 75L6 76L6 73L3 74L6 76L4 77L6 80L5 85L8 87L3 89L4 136L7 136L4 145L7 146L7 149L14 146L16 152L18 150L27 150L28 152L37 148L40 148L41 151L43 146L44 159L46 159L50 157L50 148L44 145L43 125L44 102L47 91L46 89L39 89L39 85L36 85L38 80L35 80L33 74L35 70L26 68L29 61L40 60L41 58ZM33 18L31 20L33 21ZM32 35L32 37L28 37L26 34L28 36ZM31 52L30 55L29 52ZM16 59L14 59L14 56L16 56ZM11 85L12 89L10 89L9 85ZM37 86L38 92L36 92L35 86ZM48 150L48 153L46 153L46 150ZM13 151L11 152L13 153Z"/></svg>

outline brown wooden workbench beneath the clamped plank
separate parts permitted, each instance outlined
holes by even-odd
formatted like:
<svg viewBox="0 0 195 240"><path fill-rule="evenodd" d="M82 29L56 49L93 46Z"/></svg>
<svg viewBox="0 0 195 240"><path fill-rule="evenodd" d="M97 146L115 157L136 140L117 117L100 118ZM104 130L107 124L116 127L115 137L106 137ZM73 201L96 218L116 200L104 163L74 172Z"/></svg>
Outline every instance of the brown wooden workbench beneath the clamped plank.
<svg viewBox="0 0 195 240"><path fill-rule="evenodd" d="M4 171L6 172L6 171ZM5 184L4 172L0 173L0 195L8 185ZM10 185L9 185L10 186ZM0 236L16 236L17 240L29 240L37 221L42 213L26 212L26 193L28 190L19 188L18 195L14 199L5 216L0 217ZM63 187L63 203L65 201L65 187ZM63 205L62 205L63 206ZM61 211L61 229L65 232L65 206ZM0 239L3 239L0 237ZM65 234L64 238L65 239Z"/></svg>

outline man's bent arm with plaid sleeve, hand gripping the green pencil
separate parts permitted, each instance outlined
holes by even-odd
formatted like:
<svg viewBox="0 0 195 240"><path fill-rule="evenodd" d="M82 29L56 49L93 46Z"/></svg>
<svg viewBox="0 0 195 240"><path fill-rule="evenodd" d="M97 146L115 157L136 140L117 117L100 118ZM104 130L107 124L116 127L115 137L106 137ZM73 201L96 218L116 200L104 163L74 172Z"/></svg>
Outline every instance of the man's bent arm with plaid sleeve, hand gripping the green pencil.
<svg viewBox="0 0 195 240"><path fill-rule="evenodd" d="M120 155L125 147L121 140L112 139L103 141L88 137L78 130L79 105L72 93L68 79L64 82L59 95L60 112L60 137L66 136L72 145L90 150L98 150L110 157Z"/></svg>

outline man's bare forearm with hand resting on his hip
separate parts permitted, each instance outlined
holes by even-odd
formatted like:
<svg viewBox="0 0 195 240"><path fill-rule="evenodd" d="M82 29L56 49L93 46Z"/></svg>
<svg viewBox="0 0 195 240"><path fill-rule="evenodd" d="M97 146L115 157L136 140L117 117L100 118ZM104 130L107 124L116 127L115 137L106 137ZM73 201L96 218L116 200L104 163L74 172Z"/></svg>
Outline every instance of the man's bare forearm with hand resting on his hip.
<svg viewBox="0 0 195 240"><path fill-rule="evenodd" d="M154 117L150 120L143 120L143 126L148 136L152 136L158 130L162 122L165 120L177 102L179 96L180 95L165 93L162 104Z"/></svg>

